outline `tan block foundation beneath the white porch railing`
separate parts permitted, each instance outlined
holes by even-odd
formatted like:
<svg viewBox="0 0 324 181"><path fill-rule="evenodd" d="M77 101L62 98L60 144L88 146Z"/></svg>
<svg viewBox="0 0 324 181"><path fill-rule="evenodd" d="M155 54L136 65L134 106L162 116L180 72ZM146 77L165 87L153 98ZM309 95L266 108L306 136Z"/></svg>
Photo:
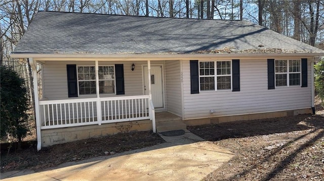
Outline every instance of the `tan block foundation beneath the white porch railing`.
<svg viewBox="0 0 324 181"><path fill-rule="evenodd" d="M76 140L83 140L87 138L113 135L120 132L149 130L152 130L151 120L48 129L42 130L42 147L72 142Z"/></svg>

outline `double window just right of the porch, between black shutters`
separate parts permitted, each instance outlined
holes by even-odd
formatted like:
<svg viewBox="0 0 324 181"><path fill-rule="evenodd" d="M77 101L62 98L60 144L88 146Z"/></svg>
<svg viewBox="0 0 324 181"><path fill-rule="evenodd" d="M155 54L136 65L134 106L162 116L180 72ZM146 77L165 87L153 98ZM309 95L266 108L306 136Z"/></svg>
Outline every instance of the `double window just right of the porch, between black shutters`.
<svg viewBox="0 0 324 181"><path fill-rule="evenodd" d="M231 77L231 61L199 62L200 91L231 89Z"/></svg>

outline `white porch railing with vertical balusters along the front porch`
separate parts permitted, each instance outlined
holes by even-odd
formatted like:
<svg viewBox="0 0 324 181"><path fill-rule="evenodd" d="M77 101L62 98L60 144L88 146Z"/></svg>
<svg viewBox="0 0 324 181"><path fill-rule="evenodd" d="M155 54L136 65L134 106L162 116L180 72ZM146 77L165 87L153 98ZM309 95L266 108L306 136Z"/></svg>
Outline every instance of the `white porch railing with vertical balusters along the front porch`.
<svg viewBox="0 0 324 181"><path fill-rule="evenodd" d="M42 129L154 118L149 95L39 101L39 112Z"/></svg>

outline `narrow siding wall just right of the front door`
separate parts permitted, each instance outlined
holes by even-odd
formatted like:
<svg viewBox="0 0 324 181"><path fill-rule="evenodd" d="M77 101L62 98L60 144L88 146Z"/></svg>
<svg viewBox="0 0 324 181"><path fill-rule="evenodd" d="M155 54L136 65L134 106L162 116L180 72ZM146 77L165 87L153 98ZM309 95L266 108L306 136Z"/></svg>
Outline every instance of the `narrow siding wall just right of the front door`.
<svg viewBox="0 0 324 181"><path fill-rule="evenodd" d="M167 110L182 115L180 61L166 61Z"/></svg>

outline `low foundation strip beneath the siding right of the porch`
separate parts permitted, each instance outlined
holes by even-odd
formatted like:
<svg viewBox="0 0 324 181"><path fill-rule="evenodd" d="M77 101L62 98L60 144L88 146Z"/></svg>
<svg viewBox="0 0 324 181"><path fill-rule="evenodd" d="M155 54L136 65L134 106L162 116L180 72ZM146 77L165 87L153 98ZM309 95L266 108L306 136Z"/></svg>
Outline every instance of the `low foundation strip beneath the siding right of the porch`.
<svg viewBox="0 0 324 181"><path fill-rule="evenodd" d="M274 118L274 117L285 117L298 114L311 114L312 109L296 109L287 111L277 111L277 112L265 112L265 113L255 113L255 114L243 114L243 115L230 115L230 116L218 116L209 117L201 119L188 119L183 122L187 126L197 126L197 125L207 125L207 124L218 124L225 122L235 122L236 120L255 120L264 118Z"/></svg>

